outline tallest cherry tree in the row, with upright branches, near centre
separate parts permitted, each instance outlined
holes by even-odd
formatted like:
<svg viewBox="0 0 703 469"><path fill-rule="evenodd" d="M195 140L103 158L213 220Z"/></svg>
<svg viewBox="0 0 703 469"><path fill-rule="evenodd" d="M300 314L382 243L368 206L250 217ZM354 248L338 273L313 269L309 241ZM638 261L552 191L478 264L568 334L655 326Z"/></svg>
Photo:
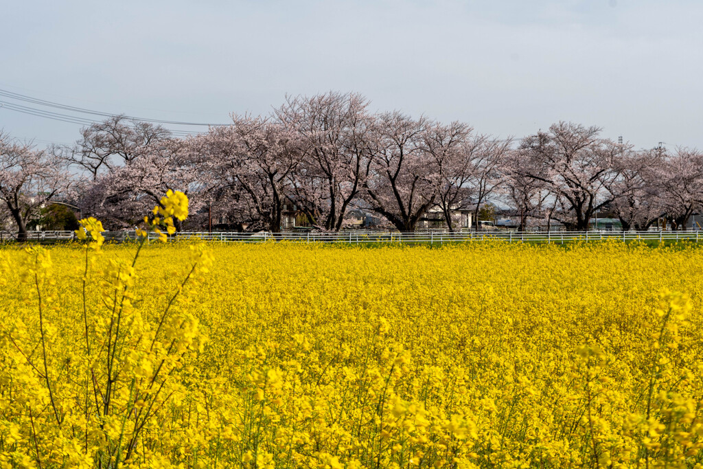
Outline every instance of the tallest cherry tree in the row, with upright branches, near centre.
<svg viewBox="0 0 703 469"><path fill-rule="evenodd" d="M289 98L276 111L286 129L299 135L303 148L290 174L288 198L319 229L339 231L363 186L371 122L367 107L359 94L330 91Z"/></svg>

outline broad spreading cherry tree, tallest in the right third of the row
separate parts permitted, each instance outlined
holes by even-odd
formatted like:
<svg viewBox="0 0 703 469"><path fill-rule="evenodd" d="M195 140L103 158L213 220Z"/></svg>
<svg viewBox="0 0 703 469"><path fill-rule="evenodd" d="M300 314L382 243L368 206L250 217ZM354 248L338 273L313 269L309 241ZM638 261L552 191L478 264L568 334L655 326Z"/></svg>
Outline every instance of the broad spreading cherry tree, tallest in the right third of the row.
<svg viewBox="0 0 703 469"><path fill-rule="evenodd" d="M614 159L622 147L598 134L598 127L559 122L520 144L532 168L528 175L558 196L562 210L555 219L570 229L588 229L593 213L614 200L605 188L619 174Z"/></svg>

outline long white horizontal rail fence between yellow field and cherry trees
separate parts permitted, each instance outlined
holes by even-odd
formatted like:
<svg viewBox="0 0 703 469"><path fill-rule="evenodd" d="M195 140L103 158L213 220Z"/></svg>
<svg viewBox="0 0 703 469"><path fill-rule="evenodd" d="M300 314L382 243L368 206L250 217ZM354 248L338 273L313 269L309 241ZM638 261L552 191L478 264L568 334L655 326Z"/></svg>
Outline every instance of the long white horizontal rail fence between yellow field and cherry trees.
<svg viewBox="0 0 703 469"><path fill-rule="evenodd" d="M123 243L135 240L134 231L105 231L105 240ZM0 242L16 240L17 233L0 231ZM151 233L150 240L158 236ZM426 230L414 232L400 231L340 231L337 233L309 231L283 233L240 233L240 232L196 232L182 231L169 237L170 240L221 241L234 243L266 243L271 241L289 241L295 243L430 243L444 244L476 240L502 240L508 243L565 243L569 241L600 241L616 239L622 241L691 241L703 240L701 231L441 231ZM60 243L75 240L73 231L30 231L27 240L33 243Z"/></svg>

